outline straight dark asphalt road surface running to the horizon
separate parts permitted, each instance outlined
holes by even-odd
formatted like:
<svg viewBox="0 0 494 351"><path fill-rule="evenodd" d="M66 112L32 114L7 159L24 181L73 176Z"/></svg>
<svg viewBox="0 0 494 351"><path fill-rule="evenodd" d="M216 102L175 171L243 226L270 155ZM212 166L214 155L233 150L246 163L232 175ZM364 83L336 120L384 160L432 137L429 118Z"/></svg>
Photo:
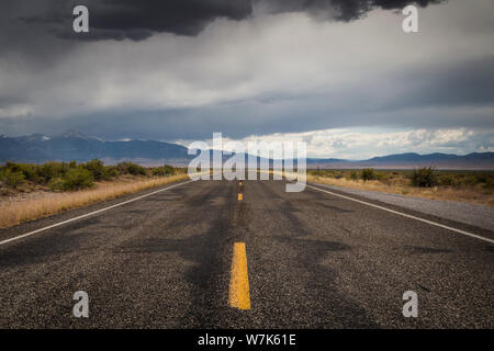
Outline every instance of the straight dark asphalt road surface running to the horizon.
<svg viewBox="0 0 494 351"><path fill-rule="evenodd" d="M0 241L123 200L0 230ZM228 304L235 242L245 310ZM312 188L198 181L1 245L0 327L493 328L493 249ZM72 316L76 291L89 318ZM417 318L402 315L406 291Z"/></svg>

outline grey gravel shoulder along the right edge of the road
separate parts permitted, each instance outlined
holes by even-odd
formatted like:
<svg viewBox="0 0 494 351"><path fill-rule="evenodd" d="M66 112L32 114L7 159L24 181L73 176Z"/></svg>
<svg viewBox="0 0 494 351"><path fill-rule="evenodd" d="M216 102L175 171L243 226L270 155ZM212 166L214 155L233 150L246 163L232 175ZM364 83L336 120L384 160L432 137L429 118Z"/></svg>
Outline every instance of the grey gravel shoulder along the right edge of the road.
<svg viewBox="0 0 494 351"><path fill-rule="evenodd" d="M351 189L322 183L314 184L337 190L344 193L375 200L382 203L413 210L427 215L434 215L445 219L460 222L482 229L494 230L494 210L487 206L463 202L412 197L400 194L390 194L378 191Z"/></svg>

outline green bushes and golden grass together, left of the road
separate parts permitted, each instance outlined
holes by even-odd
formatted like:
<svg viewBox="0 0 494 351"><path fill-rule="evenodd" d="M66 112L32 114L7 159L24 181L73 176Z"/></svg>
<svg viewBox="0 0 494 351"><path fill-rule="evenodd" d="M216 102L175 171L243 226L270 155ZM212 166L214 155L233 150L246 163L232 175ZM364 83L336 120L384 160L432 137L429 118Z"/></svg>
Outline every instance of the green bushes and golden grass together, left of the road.
<svg viewBox="0 0 494 351"><path fill-rule="evenodd" d="M187 179L169 165L46 162L0 166L0 228Z"/></svg>

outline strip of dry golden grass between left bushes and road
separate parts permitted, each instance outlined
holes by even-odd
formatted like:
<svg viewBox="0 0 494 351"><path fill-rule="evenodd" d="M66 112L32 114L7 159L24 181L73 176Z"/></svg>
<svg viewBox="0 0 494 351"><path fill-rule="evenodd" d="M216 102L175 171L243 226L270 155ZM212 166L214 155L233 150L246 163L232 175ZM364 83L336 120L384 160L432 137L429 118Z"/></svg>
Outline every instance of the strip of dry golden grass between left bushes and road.
<svg viewBox="0 0 494 351"><path fill-rule="evenodd" d="M14 226L23 222L54 215L103 200L161 186L188 178L187 174L153 179L127 178L113 182L101 182L92 189L77 192L38 192L27 199L10 199L0 202L0 228Z"/></svg>

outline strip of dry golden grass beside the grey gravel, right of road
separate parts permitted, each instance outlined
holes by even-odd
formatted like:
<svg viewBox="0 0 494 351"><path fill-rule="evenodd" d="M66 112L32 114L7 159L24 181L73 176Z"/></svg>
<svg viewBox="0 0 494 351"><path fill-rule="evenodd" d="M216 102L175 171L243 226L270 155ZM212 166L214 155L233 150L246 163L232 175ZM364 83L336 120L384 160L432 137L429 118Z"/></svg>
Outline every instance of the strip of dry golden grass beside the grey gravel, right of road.
<svg viewBox="0 0 494 351"><path fill-rule="evenodd" d="M450 186L416 188L409 186L405 180L391 181L385 184L377 180L364 182L362 180L349 180L346 178L336 179L328 177L316 177L312 174L307 174L307 181L431 200L468 202L494 207L493 193L485 191L482 186L464 186L460 189Z"/></svg>

